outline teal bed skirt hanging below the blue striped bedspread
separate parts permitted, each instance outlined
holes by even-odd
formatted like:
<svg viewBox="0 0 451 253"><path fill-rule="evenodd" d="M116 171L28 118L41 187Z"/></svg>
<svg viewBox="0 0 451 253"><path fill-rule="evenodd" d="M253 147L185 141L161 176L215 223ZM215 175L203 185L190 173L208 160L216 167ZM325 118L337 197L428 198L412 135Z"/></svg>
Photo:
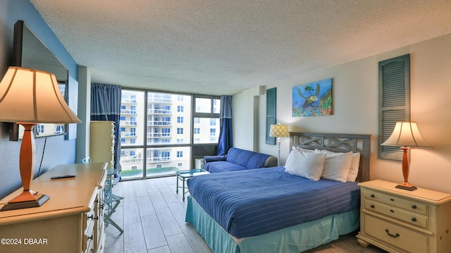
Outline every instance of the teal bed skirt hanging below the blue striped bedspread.
<svg viewBox="0 0 451 253"><path fill-rule="evenodd" d="M354 209L264 235L237 239L223 230L189 196L187 198L185 221L196 228L197 233L204 238L206 244L214 253L298 253L337 240L339 235L357 230L360 224L359 217L359 209Z"/></svg>

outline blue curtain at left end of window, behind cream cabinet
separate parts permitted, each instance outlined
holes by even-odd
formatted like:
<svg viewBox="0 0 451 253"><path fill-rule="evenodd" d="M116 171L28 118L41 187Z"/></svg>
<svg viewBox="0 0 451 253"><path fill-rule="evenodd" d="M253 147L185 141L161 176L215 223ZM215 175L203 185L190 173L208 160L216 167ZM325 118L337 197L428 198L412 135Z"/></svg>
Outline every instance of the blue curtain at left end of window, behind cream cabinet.
<svg viewBox="0 0 451 253"><path fill-rule="evenodd" d="M119 122L121 120L121 86L104 85L101 83L91 84L91 121L114 121L115 143L114 143L114 168L121 171L119 159L121 157L121 131Z"/></svg>

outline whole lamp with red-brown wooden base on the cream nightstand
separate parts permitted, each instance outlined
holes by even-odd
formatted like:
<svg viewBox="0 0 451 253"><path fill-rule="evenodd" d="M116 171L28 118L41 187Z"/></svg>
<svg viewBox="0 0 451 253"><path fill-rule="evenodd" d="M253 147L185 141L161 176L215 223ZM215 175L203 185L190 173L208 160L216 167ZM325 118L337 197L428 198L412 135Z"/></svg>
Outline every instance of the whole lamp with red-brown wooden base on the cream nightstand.
<svg viewBox="0 0 451 253"><path fill-rule="evenodd" d="M431 145L424 140L418 129L416 122L397 122L392 134L381 145L401 147L402 149L402 175L404 182L396 185L397 188L404 190L416 190L416 187L409 183L409 158L407 157L407 150L410 147L431 147Z"/></svg>

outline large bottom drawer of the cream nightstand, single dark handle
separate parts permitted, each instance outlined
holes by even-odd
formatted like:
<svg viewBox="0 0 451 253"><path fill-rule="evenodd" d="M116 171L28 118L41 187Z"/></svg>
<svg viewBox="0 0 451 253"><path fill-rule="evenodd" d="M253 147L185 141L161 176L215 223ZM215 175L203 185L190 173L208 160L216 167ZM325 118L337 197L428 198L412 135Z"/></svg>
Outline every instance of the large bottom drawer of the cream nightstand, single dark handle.
<svg viewBox="0 0 451 253"><path fill-rule="evenodd" d="M429 252L428 237L426 235L421 235L407 228L402 228L366 214L362 218L364 218L365 222L365 226L362 229L367 235L376 237L378 240L390 243L407 252Z"/></svg>

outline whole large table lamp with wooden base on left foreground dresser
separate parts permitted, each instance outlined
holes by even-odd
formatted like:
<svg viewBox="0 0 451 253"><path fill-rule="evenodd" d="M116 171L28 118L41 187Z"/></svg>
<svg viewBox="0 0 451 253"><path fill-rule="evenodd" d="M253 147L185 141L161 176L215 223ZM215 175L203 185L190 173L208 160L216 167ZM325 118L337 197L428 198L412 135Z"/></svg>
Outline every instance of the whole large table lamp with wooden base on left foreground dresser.
<svg viewBox="0 0 451 253"><path fill-rule="evenodd" d="M10 199L1 211L41 206L49 196L34 192L30 187L36 163L33 128L37 123L81 121L61 96L54 74L29 68L9 67L0 82L0 122L19 123L25 128L19 164L23 192L18 197Z"/></svg>

